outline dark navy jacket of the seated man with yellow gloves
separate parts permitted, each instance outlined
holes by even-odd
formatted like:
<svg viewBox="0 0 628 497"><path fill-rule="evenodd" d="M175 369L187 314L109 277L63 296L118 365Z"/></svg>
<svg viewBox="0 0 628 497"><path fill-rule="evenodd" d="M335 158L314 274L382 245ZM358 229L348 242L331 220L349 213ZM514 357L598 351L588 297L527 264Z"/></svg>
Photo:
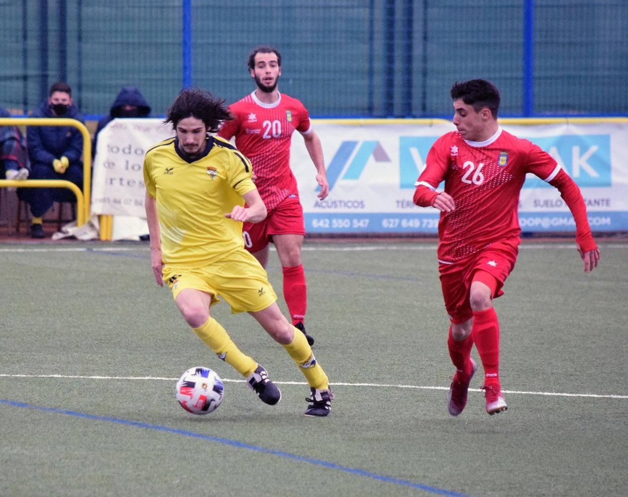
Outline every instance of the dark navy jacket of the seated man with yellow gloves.
<svg viewBox="0 0 628 497"><path fill-rule="evenodd" d="M44 100L39 109L35 110L31 117L58 117L48 106L48 100ZM60 116L68 119L76 119L83 124L85 120L78 112L76 105L68 107L67 112ZM52 161L61 156L66 156L70 164L80 163L83 154L83 136L73 126L28 126L26 128L26 143L28 144L28 156L31 164L46 164L52 167Z"/></svg>

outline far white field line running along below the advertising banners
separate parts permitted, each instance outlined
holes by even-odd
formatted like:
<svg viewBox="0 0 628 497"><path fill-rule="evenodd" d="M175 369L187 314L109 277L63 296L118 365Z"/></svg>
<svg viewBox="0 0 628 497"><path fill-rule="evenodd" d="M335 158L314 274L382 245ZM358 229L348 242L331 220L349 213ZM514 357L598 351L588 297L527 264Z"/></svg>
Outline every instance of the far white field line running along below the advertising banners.
<svg viewBox="0 0 628 497"><path fill-rule="evenodd" d="M602 243L604 250L609 249L628 249L627 243ZM546 249L575 249L574 243L523 243L519 245L521 250L546 250ZM271 250L275 250L271 247ZM436 243L423 244L418 242L416 245L357 245L354 247L316 247L313 245L301 247L305 252L371 252L374 250L436 250ZM147 247L0 247L0 252L149 252Z"/></svg>

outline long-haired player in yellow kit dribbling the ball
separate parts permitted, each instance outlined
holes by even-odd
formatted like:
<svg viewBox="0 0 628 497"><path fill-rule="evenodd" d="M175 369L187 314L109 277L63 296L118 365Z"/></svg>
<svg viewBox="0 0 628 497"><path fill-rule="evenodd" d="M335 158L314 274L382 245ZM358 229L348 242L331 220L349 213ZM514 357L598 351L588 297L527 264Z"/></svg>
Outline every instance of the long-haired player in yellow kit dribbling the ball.
<svg viewBox="0 0 628 497"><path fill-rule="evenodd" d="M288 351L310 385L305 414L326 416L333 399L327 375L303 333L295 333L279 311L266 271L244 249L242 223L263 220L266 206L251 181L248 159L229 142L208 135L229 119L224 100L187 88L166 114L176 137L146 152L146 219L154 276L158 285L168 283L198 337L247 378L263 402L274 405L281 398L279 388L210 316L210 306L222 297L233 313L251 314Z"/></svg>

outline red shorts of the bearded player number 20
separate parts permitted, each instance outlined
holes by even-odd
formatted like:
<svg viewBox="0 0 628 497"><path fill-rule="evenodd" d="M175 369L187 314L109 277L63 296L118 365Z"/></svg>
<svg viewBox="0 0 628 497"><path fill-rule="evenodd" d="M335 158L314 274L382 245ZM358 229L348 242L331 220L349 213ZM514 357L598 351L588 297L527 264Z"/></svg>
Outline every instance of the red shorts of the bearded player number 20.
<svg viewBox="0 0 628 497"><path fill-rule="evenodd" d="M254 254L273 241L273 235L305 236L303 207L298 195L289 195L259 223L244 223L244 248Z"/></svg>

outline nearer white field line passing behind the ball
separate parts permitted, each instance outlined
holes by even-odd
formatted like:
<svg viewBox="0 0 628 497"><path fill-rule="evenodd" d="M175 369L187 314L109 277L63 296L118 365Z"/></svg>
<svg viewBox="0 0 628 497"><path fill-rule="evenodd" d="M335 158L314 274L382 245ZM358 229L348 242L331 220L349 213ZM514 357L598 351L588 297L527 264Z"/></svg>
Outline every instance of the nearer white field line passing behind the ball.
<svg viewBox="0 0 628 497"><path fill-rule="evenodd" d="M79 375L8 375L0 373L4 378L73 378L81 380L162 380L176 382L178 378L163 377L109 377L109 376L79 376ZM244 383L245 380L228 380L225 383ZM277 385L307 385L306 382L274 382ZM332 386L342 387L385 387L385 388L411 388L413 390L449 390L449 387L421 387L418 385L392 385L381 383L330 383ZM471 392L482 392L479 388L469 388ZM548 397L592 397L592 398L628 398L628 395L600 395L597 393L560 393L560 392L524 392L522 390L502 390L503 393L520 393L522 395L547 395Z"/></svg>

